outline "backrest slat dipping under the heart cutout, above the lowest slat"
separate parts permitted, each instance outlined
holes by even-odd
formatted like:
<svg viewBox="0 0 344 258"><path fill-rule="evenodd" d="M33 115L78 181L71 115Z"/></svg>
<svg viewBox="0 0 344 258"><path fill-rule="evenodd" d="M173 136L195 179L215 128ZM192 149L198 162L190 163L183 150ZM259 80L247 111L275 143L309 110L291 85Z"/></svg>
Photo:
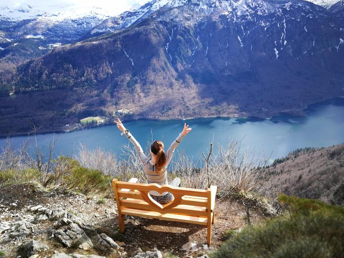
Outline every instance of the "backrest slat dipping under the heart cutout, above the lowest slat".
<svg viewBox="0 0 344 258"><path fill-rule="evenodd" d="M170 209L162 210L162 209L151 206L149 203L145 201L141 201L137 199L122 199L120 201L120 205L122 207L127 207L127 208L152 210L152 211L156 211L162 214L179 213L179 214L187 214L187 215L192 214L193 216L207 217L207 210L205 207L192 206L192 205L178 205Z"/></svg>

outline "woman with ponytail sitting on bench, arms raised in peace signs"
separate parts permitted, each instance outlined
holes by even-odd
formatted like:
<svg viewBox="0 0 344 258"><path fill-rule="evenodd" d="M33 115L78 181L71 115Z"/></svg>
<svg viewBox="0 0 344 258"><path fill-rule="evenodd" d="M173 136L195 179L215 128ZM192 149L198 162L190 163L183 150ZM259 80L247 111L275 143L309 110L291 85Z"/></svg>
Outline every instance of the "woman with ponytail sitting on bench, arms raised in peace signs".
<svg viewBox="0 0 344 258"><path fill-rule="evenodd" d="M124 127L122 122L117 119L117 121L114 121L118 127L118 129L122 132L121 135L125 135L125 137L134 144L134 147L139 155L141 164L143 165L143 168L146 171L146 177L148 184L150 183L156 183L158 185L167 185L167 173L166 168L171 161L171 158L173 156L173 153L176 149L176 147L181 143L183 138L191 131L191 128L189 128L189 125L186 125L184 123L184 128L182 133L179 134L177 139L169 146L167 152L165 153L163 150L163 143L161 141L154 141L151 144L150 148L150 154L151 158L147 157L145 153L143 152L143 149L141 148L140 144L136 141L134 136ZM173 182L170 183L171 186L179 186L181 183L181 180L179 178L176 178ZM159 194L156 191L150 191L149 195L158 203L164 204L173 199L173 195L168 192L164 192L162 194Z"/></svg>

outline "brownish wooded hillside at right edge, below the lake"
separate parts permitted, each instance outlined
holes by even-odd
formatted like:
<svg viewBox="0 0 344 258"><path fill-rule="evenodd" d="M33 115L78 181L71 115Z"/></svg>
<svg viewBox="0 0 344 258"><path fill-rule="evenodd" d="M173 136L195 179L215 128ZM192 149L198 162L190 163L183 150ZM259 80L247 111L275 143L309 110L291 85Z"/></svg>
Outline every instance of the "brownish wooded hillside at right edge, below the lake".
<svg viewBox="0 0 344 258"><path fill-rule="evenodd" d="M268 195L284 193L344 205L344 144L295 150L263 169L263 175Z"/></svg>

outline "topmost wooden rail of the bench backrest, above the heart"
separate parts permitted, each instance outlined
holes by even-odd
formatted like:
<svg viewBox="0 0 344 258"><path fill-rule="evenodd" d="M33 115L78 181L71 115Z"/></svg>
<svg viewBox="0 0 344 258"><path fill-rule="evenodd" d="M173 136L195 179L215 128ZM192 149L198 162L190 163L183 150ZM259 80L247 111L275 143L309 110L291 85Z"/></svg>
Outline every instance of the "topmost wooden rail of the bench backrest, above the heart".
<svg viewBox="0 0 344 258"><path fill-rule="evenodd" d="M206 190L192 189L192 188L183 188L183 187L174 187L169 185L158 185L158 184L140 184L140 183L127 183L127 182L116 182L116 187L119 189L135 189L138 191L157 191L157 192L170 192L172 194L178 195L192 195L207 197Z"/></svg>

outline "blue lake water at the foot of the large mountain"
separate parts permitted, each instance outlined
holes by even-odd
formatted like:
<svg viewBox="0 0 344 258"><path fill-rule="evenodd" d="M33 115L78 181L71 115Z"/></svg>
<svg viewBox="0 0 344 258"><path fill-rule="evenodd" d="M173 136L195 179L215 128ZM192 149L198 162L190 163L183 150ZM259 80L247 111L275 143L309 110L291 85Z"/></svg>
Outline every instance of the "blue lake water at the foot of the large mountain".
<svg viewBox="0 0 344 258"><path fill-rule="evenodd" d="M182 131L183 123L192 127L178 147L184 149L194 162L201 159L209 149L209 142L227 145L231 140L241 140L242 146L256 154L263 151L270 156L270 162L287 155L290 151L303 147L327 147L344 142L344 98L309 105L305 117L279 115L271 119L257 118L197 118L190 120L132 120L123 121L135 138L146 149L152 139L162 139L165 149ZM102 148L117 155L127 139L120 136L115 125L104 125L81 131L61 134L37 135L40 146L47 146L57 138L56 154L76 154L80 144L87 148ZM33 137L18 136L12 138L13 146L20 146L26 139L33 143ZM6 145L6 138L0 138L0 146Z"/></svg>

